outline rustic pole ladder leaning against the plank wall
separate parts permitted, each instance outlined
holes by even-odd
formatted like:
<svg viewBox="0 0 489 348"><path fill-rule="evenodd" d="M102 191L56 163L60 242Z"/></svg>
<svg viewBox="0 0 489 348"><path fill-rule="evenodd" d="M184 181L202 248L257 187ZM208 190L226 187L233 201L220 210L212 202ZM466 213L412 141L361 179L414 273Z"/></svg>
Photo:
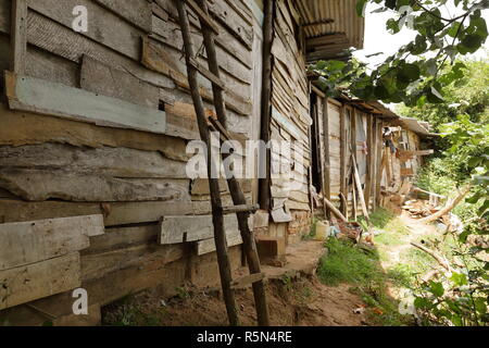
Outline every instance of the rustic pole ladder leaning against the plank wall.
<svg viewBox="0 0 489 348"><path fill-rule="evenodd" d="M212 161L212 147L210 127L217 130L221 134L221 139L230 140L230 135L227 132L227 116L226 107L224 101L224 91L226 90L225 84L220 78L220 67L217 62L217 54L215 50L214 36L218 35L220 29L213 18L209 15L209 8L206 0L174 0L174 3L178 10L179 25L181 28L181 35L184 38L184 51L187 63L187 75L190 85L190 91L193 100L193 107L197 114L197 121L199 125L199 133L202 141L208 147L208 174L209 186L211 191L212 215L214 224L214 239L217 250L217 261L220 265L221 284L223 288L224 300L226 303L226 310L231 326L239 325L238 312L236 309L236 301L234 295L234 288L246 284L252 284L254 301L256 307L258 324L260 326L269 326L268 308L266 304L265 282L264 274L261 271L260 258L256 250L256 243L254 239L254 233L248 224L250 212L258 210L258 207L247 206L244 194L241 190L238 181L233 177L227 179L227 185L233 198L235 207L223 208L220 181L212 178L212 173L220 173L214 166ZM193 13L199 17L200 26L203 35L203 44L208 55L209 69L205 69L198 63L197 57L193 50L190 24L188 20L187 7L190 8ZM204 104L199 91L199 84L197 80L198 74L208 78L212 83L212 91L214 98L214 108L217 115L217 120L205 116ZM208 123L209 122L209 123ZM226 154L223 154L223 159L226 159ZM229 177L229 175L228 175ZM248 261L250 275L236 279L233 282L231 270L229 264L229 258L227 253L226 234L224 231L224 214L236 213L238 217L239 231L241 233L243 241L243 251Z"/></svg>

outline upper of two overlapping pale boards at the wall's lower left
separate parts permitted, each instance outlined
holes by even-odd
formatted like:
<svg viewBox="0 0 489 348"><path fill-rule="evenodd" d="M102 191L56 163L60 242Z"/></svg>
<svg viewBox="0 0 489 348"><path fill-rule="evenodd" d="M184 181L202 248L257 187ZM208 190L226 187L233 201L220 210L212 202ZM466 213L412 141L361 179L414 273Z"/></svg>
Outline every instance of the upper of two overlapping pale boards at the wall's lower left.
<svg viewBox="0 0 489 348"><path fill-rule="evenodd" d="M0 271L87 249L103 234L102 215L0 224Z"/></svg>

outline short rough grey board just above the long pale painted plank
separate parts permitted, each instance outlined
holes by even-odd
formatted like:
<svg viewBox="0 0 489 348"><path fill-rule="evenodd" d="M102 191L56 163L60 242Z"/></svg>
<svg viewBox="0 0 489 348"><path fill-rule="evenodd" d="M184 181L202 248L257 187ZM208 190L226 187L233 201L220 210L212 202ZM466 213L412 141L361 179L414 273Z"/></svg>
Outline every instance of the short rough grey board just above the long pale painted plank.
<svg viewBox="0 0 489 348"><path fill-rule="evenodd" d="M125 100L156 110L160 88L124 71L84 55L80 87L97 95Z"/></svg>

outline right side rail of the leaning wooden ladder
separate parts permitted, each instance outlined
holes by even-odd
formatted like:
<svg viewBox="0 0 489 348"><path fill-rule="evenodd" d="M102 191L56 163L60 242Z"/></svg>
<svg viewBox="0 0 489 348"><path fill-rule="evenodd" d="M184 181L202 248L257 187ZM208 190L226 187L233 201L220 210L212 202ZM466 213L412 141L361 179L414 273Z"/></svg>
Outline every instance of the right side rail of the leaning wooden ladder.
<svg viewBox="0 0 489 348"><path fill-rule="evenodd" d="M209 14L209 9L206 5L206 0L199 0L200 5L204 13ZM217 53L215 51L215 42L212 32L209 28L202 26L203 39L205 51L208 53L208 62L209 70L215 76L220 76L220 66L217 62ZM226 114L226 105L224 102L224 94L223 90L216 86L213 86L213 95L214 95L214 107L217 114L218 122L227 129L227 114ZM227 156L223 154L223 159L226 159ZM226 173L229 174L229 173ZM230 175L227 175L230 177ZM233 202L235 206L246 206L247 200L244 194L241 190L241 187L236 179L236 177L230 177L227 181L227 185L229 187L229 191L233 198ZM238 215L238 225L239 231L241 232L241 238L243 241L243 250L248 260L248 266L250 269L250 274L261 274L261 264L260 258L256 249L256 241L254 239L254 232L251 231L248 224L248 217L250 216L249 211L237 211ZM269 326L269 315L268 315L268 307L266 303L266 293L265 293L265 283L262 279L254 282L253 285L253 294L254 294L254 302L256 307L256 316L258 323L260 326Z"/></svg>

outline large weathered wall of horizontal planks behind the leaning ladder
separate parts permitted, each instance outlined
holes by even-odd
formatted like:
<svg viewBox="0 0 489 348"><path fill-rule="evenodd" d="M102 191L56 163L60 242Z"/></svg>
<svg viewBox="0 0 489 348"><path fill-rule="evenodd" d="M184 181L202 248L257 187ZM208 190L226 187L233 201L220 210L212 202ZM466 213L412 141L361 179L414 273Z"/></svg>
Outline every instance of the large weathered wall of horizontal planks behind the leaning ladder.
<svg viewBox="0 0 489 348"><path fill-rule="evenodd" d="M0 223L102 215L105 234L90 237L79 262L68 260L78 262L80 285L96 309L156 284L171 294L186 281L212 283L209 270L218 274L213 253L199 259L190 244L156 244L162 216L210 213L209 188L185 171L186 146L199 135L173 1L26 2L25 70L0 84L9 96L0 102ZM72 29L75 5L88 9L88 33ZM229 129L255 138L252 12L243 0L213 1L210 11L220 29ZM195 14L190 22L199 48ZM10 34L11 0L0 0L1 72L10 69ZM204 52L198 61L205 64ZM213 113L211 84L199 83ZM47 90L50 98L39 98ZM251 200L252 185L243 184ZM239 247L231 258L238 266ZM66 284L78 286L76 279ZM36 308L57 318L70 314L71 293L59 289ZM11 323L46 319L25 306L0 316Z"/></svg>

